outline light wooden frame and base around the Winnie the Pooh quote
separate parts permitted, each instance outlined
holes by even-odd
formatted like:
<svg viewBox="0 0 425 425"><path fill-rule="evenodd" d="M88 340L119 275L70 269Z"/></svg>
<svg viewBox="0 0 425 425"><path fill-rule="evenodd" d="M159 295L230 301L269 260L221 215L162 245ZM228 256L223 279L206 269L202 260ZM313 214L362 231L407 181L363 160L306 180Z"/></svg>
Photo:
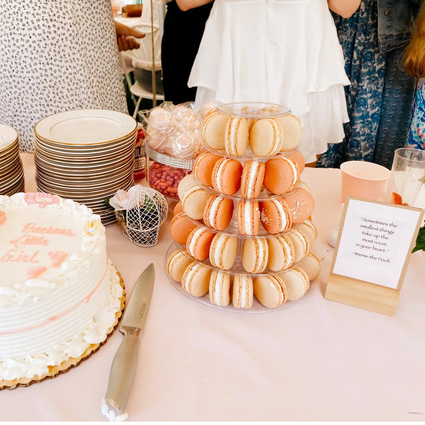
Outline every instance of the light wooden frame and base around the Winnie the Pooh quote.
<svg viewBox="0 0 425 425"><path fill-rule="evenodd" d="M348 209L348 201L350 199L356 201L371 202L374 204L390 205L394 208L404 208L406 210L420 212L419 220L414 232L414 237L412 238L412 242L410 244L410 248L408 254L406 255L404 266L399 277L397 289L391 289L385 286L377 285L375 283L366 282L364 280L358 280L347 276L337 275L333 272ZM416 243L416 237L418 235L419 228L421 227L421 224L423 222L423 218L424 210L420 210L419 208L405 207L402 205L388 204L386 202L369 201L368 199L348 197L344 205L340 230L338 232L337 244L335 246L334 258L332 259L331 271L329 274L328 284L326 286L325 298L327 300L337 301L338 303L347 304L349 306L354 306L360 309L369 310L371 312L385 314L387 316L393 317L397 310L400 290L406 274L412 249L414 248Z"/></svg>

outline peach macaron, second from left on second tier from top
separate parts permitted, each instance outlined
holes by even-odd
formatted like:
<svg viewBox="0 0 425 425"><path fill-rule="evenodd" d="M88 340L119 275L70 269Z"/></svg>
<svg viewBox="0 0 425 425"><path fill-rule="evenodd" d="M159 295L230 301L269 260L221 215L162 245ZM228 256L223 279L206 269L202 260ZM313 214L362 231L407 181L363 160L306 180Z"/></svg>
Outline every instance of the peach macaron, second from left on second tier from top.
<svg viewBox="0 0 425 425"><path fill-rule="evenodd" d="M212 170L212 187L224 195L234 195L241 187L242 164L236 159L221 158Z"/></svg>

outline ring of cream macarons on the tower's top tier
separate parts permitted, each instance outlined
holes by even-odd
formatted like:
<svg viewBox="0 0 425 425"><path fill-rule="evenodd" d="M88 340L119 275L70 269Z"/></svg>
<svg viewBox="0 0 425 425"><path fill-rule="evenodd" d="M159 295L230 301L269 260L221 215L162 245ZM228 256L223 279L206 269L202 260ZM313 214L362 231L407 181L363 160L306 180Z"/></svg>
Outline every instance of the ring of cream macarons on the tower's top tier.
<svg viewBox="0 0 425 425"><path fill-rule="evenodd" d="M247 108L245 112L248 116ZM269 112L272 116L272 111ZM291 151L301 141L303 128L294 115L267 118L263 114L263 118L246 119L232 116L231 113L231 110L227 115L213 109L204 117L201 135L210 149L225 150L227 155L234 157L247 155L267 158Z"/></svg>

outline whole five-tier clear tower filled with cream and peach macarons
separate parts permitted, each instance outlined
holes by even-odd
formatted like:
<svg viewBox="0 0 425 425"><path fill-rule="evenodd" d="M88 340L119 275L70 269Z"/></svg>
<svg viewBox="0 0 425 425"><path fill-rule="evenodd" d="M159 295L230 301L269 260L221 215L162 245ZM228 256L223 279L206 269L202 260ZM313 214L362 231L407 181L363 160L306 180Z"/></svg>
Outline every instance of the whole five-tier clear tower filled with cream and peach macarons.
<svg viewBox="0 0 425 425"><path fill-rule="evenodd" d="M320 272L299 120L280 105L227 104L207 113L201 134L205 152L182 179L170 224L170 282L218 309L294 305Z"/></svg>

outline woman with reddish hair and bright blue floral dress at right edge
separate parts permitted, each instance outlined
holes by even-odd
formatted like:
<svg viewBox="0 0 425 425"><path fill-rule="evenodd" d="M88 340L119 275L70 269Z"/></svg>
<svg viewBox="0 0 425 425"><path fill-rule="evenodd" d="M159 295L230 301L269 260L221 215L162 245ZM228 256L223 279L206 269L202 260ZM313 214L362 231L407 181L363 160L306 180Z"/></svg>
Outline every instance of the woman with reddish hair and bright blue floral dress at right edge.
<svg viewBox="0 0 425 425"><path fill-rule="evenodd" d="M425 5L416 20L404 66L408 74L418 78L406 145L425 150Z"/></svg>

